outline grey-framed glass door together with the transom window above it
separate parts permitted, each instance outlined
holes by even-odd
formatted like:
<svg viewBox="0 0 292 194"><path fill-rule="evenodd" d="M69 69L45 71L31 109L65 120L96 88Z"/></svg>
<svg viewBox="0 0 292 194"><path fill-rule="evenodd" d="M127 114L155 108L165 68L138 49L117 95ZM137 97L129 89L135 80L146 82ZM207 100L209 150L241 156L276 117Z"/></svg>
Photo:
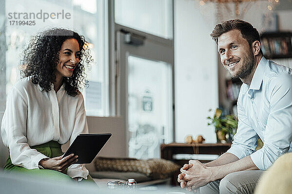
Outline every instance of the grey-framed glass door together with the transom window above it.
<svg viewBox="0 0 292 194"><path fill-rule="evenodd" d="M109 0L110 112L126 155L160 157L174 140L173 0Z"/></svg>

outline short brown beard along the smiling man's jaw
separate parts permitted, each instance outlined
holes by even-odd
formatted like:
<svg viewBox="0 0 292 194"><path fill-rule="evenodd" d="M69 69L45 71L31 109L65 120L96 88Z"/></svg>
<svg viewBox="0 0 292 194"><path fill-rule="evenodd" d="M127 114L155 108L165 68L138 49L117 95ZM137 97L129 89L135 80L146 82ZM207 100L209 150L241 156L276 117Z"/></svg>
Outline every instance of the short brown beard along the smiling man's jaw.
<svg viewBox="0 0 292 194"><path fill-rule="evenodd" d="M232 78L247 78L253 71L253 68L255 67L255 61L256 58L254 57L252 50L250 50L247 57L242 58L242 67L239 69L239 71L234 75L231 71L228 70L229 74Z"/></svg>

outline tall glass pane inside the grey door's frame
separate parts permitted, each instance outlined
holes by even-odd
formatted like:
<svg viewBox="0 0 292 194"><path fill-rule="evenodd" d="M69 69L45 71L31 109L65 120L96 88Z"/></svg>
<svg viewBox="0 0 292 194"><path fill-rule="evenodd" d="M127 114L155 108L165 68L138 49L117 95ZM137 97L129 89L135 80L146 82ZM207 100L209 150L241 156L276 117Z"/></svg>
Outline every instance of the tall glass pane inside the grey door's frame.
<svg viewBox="0 0 292 194"><path fill-rule="evenodd" d="M128 156L155 158L172 141L171 65L128 55Z"/></svg>

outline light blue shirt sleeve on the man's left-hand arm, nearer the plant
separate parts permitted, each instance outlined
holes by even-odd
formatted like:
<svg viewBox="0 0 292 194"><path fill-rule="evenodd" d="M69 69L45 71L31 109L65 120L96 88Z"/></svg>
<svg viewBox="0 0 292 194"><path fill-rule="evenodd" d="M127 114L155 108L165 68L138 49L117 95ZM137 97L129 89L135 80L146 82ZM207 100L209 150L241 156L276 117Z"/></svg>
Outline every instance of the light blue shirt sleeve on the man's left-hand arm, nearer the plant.
<svg viewBox="0 0 292 194"><path fill-rule="evenodd" d="M234 135L234 141L227 153L235 155L238 159L242 159L254 153L257 146L258 135L251 127L247 116L244 113L244 108L237 102L238 112L238 128Z"/></svg>

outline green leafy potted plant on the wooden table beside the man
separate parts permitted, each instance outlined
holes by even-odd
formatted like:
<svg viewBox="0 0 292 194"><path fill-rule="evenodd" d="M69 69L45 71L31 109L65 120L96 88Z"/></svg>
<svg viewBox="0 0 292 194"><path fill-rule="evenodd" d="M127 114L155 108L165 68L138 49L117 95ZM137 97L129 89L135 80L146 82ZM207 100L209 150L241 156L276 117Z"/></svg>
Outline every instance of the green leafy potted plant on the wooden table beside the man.
<svg viewBox="0 0 292 194"><path fill-rule="evenodd" d="M218 143L232 142L237 129L237 117L234 114L222 115L222 110L216 109L213 118L208 116L207 119L208 125L215 126Z"/></svg>

